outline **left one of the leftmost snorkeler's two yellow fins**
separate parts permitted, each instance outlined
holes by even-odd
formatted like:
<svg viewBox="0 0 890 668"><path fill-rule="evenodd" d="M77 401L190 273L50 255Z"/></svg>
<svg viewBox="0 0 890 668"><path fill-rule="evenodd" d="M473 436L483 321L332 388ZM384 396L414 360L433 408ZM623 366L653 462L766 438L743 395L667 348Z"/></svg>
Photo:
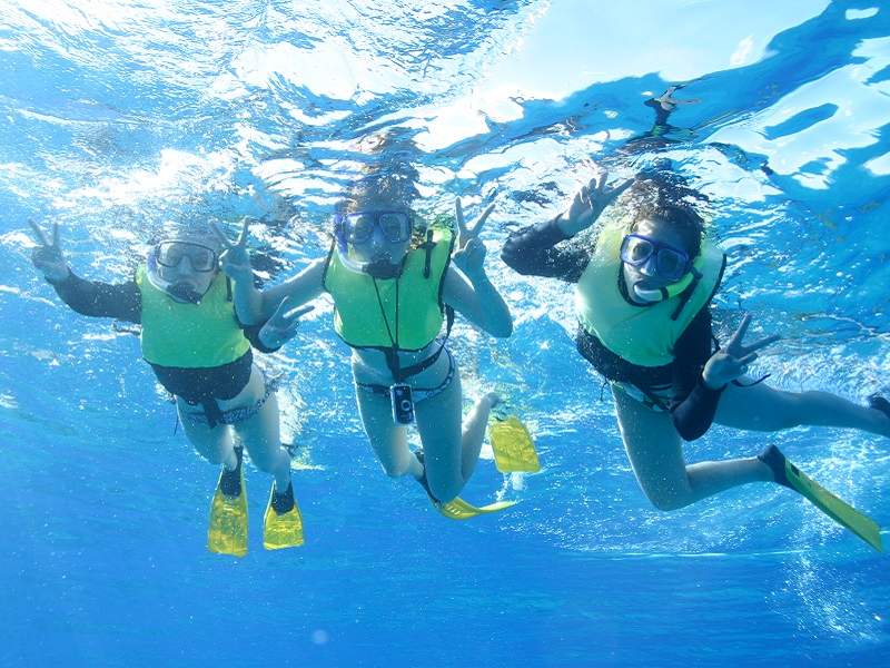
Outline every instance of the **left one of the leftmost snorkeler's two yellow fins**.
<svg viewBox="0 0 890 668"><path fill-rule="evenodd" d="M247 488L244 484L244 448L236 448L238 466L219 474L214 500L210 502L210 528L207 549L217 554L247 554Z"/></svg>

